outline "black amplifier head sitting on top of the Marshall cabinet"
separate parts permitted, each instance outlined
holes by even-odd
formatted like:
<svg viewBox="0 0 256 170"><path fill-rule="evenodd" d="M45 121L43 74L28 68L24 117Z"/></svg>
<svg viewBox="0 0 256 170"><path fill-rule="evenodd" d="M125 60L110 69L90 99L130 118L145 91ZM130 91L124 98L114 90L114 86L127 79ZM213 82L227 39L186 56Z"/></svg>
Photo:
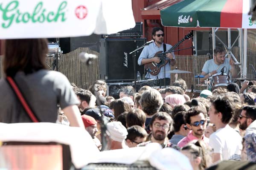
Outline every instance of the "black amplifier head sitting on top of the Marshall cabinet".
<svg viewBox="0 0 256 170"><path fill-rule="evenodd" d="M103 35L103 38L111 37L142 37L143 35L143 23L137 22L134 28L130 28L116 34Z"/></svg>

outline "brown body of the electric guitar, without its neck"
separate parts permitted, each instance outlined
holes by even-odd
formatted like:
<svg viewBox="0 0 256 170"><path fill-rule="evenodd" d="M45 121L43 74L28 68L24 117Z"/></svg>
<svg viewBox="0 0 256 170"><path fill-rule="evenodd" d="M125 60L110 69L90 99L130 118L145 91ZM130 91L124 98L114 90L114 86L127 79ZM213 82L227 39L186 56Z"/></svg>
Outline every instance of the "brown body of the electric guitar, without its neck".
<svg viewBox="0 0 256 170"><path fill-rule="evenodd" d="M158 51L154 57L159 57L158 54L163 53L163 51ZM150 73L153 76L156 76L157 74L159 74L161 67L163 67L164 65L166 65L168 63L168 60L165 60L164 62L164 57L160 57L161 61L157 64L156 62L149 62L147 64L144 65L144 68L146 71L148 71L148 73Z"/></svg>

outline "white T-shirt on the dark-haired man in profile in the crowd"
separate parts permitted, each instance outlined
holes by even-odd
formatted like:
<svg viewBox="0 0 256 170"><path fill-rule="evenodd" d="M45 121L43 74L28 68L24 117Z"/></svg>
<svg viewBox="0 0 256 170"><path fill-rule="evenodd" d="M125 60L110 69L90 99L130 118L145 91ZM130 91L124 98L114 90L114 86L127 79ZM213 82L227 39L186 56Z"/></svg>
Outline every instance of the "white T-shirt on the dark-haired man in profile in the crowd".
<svg viewBox="0 0 256 170"><path fill-rule="evenodd" d="M232 127L218 129L209 138L209 146L213 153L220 153L223 160L228 160L234 154L241 155L242 138Z"/></svg>

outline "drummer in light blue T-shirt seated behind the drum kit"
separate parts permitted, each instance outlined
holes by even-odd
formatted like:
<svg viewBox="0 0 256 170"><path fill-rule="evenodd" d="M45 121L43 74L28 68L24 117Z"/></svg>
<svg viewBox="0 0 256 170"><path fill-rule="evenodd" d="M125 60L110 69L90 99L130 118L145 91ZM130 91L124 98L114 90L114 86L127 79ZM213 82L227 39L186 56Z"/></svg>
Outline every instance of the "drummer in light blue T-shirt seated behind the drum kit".
<svg viewBox="0 0 256 170"><path fill-rule="evenodd" d="M223 71L223 73L227 75L229 75L230 71L232 74L232 78L238 77L235 69L235 62L233 61L233 59L226 59L225 49L223 47L216 46L213 52L213 59L209 59L204 63L201 75L204 75L205 77L201 78L200 82L204 82L204 80L208 79L214 74L221 74L221 71Z"/></svg>

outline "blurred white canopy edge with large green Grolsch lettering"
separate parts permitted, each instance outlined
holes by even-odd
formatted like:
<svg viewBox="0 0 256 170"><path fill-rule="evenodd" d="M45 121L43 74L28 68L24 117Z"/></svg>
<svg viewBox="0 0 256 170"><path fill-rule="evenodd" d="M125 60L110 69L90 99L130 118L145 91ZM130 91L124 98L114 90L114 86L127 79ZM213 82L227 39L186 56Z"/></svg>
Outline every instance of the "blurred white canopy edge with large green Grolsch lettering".
<svg viewBox="0 0 256 170"><path fill-rule="evenodd" d="M0 39L113 34L134 26L131 0L0 0Z"/></svg>

